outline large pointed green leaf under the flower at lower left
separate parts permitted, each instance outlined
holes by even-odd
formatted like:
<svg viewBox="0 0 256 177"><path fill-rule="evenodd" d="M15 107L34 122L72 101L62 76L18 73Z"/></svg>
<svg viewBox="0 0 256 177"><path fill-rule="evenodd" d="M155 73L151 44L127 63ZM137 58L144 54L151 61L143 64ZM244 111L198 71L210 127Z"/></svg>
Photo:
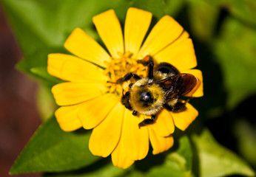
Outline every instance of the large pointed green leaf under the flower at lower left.
<svg viewBox="0 0 256 177"><path fill-rule="evenodd" d="M55 117L51 117L30 139L10 174L60 172L90 165L100 157L90 153L89 138L90 131L62 131Z"/></svg>

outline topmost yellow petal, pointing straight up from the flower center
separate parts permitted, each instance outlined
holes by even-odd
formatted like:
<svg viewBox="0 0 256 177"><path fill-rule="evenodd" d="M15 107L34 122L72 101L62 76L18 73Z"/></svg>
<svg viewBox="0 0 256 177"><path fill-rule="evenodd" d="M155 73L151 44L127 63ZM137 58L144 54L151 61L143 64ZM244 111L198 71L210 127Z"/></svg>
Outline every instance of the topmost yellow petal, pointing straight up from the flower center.
<svg viewBox="0 0 256 177"><path fill-rule="evenodd" d="M152 13L130 7L124 25L125 51L137 55L151 22Z"/></svg>

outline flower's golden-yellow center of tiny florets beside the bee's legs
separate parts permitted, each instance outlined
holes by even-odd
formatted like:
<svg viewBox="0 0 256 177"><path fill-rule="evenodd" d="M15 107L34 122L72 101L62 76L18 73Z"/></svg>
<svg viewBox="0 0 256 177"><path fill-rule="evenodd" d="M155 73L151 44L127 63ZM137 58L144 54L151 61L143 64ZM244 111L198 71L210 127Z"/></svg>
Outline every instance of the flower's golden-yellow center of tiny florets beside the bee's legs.
<svg viewBox="0 0 256 177"><path fill-rule="evenodd" d="M121 96L123 91L127 91L130 80L121 84L116 84L115 82L129 72L138 74L140 77L146 77L146 66L137 63L137 60L132 58L131 52L125 52L124 54L118 52L118 56L119 58L112 58L110 62L104 61L107 65L104 74L110 78L110 82L106 84L110 93L115 93ZM131 81L132 80L133 78Z"/></svg>

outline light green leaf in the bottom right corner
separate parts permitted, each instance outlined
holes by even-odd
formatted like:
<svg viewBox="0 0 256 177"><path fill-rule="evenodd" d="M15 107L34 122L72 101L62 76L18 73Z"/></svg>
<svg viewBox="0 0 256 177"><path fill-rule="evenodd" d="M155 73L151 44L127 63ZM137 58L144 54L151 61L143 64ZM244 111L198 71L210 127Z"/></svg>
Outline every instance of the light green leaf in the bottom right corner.
<svg viewBox="0 0 256 177"><path fill-rule="evenodd" d="M192 136L192 141L198 152L200 176L255 176L255 172L243 159L219 145L208 130L204 130L200 136Z"/></svg>

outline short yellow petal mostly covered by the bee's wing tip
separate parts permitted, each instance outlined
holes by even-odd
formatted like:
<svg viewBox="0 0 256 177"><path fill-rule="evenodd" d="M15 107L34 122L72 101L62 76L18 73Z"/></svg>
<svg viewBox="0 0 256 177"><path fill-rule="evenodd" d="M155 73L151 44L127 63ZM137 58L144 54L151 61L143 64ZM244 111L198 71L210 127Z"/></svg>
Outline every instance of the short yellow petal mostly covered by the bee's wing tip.
<svg viewBox="0 0 256 177"><path fill-rule="evenodd" d="M189 94L186 94L186 97L203 97L203 74L199 69L189 69L183 71L183 73L193 74L198 78L198 84L195 86Z"/></svg>

